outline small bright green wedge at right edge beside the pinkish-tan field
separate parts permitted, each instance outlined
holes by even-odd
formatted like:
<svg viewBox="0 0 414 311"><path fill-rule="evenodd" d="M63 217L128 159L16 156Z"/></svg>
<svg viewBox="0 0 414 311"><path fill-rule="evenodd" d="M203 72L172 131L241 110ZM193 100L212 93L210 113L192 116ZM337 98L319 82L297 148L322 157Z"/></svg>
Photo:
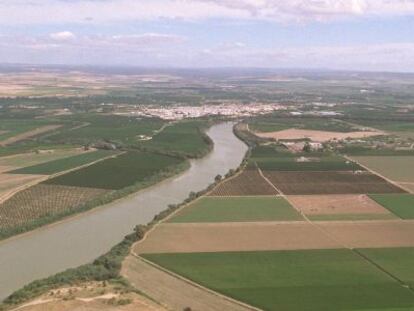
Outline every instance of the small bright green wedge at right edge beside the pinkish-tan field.
<svg viewBox="0 0 414 311"><path fill-rule="evenodd" d="M371 194L371 199L402 219L414 219L414 195Z"/></svg>

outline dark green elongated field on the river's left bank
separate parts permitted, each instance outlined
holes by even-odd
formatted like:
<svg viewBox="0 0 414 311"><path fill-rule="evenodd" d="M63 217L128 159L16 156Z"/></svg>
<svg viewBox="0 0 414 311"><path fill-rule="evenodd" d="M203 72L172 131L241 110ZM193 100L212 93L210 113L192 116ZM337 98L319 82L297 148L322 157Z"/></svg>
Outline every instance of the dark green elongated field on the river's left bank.
<svg viewBox="0 0 414 311"><path fill-rule="evenodd" d="M183 160L147 153L127 152L85 168L47 180L47 184L119 190L143 181Z"/></svg>

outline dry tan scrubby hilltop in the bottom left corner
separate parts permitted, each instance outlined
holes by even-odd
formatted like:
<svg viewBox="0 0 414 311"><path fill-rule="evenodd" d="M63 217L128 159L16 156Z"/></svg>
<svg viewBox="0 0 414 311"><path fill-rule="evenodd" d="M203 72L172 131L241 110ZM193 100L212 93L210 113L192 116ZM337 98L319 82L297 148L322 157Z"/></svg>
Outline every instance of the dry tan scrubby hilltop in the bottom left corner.
<svg viewBox="0 0 414 311"><path fill-rule="evenodd" d="M111 285L89 283L63 287L10 311L165 311L150 299Z"/></svg>

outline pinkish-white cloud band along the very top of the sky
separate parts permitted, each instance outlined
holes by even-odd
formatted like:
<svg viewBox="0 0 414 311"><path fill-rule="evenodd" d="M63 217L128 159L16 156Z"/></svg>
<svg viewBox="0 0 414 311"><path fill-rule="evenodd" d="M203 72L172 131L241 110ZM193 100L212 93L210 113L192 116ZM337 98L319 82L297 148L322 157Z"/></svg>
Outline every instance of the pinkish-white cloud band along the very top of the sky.
<svg viewBox="0 0 414 311"><path fill-rule="evenodd" d="M0 25L157 19L329 21L414 15L414 0L2 0Z"/></svg>

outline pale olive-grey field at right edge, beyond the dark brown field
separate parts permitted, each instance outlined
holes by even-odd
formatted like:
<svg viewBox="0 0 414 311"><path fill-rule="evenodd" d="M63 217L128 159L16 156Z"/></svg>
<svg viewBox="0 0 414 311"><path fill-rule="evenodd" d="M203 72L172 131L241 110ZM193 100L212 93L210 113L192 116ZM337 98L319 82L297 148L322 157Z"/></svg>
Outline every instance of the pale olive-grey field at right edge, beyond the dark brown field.
<svg viewBox="0 0 414 311"><path fill-rule="evenodd" d="M414 156L362 156L353 158L362 165L396 182L414 182Z"/></svg>

